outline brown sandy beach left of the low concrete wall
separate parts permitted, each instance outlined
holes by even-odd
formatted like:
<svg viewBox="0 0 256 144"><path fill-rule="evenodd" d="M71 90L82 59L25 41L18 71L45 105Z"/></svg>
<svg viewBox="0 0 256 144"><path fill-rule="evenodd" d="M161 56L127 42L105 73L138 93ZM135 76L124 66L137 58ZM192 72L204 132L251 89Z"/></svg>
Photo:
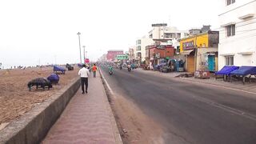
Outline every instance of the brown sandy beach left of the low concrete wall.
<svg viewBox="0 0 256 144"><path fill-rule="evenodd" d="M34 86L31 91L27 83L34 78L47 78L53 73L53 67L0 70L0 127L40 105L74 78L78 78L78 70L78 67L74 67L74 70L66 71L66 74L59 74L59 83L53 85L53 89L36 90Z"/></svg>

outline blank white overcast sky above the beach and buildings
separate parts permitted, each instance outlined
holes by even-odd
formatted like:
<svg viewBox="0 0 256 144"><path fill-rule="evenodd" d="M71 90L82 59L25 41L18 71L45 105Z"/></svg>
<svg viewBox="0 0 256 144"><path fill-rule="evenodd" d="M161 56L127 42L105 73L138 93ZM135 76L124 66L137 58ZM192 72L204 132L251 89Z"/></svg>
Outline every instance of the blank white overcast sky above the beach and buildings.
<svg viewBox="0 0 256 144"><path fill-rule="evenodd" d="M2 0L0 62L35 66L79 62L78 31L87 57L128 50L151 30L168 23L179 30L218 28L222 0Z"/></svg>

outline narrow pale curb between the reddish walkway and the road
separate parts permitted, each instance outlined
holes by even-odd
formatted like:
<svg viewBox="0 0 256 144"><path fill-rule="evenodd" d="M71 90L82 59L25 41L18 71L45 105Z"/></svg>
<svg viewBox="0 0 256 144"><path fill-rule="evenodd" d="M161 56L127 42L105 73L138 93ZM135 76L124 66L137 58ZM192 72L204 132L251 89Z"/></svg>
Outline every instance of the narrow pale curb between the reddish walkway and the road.
<svg viewBox="0 0 256 144"><path fill-rule="evenodd" d="M99 74L101 75L101 78L102 78L102 84L103 86L105 87L105 94L106 96L108 97L109 95L114 95L113 91L111 90L110 88L110 85L106 82L106 79L104 78L103 74L102 74L102 71L100 68L98 68L98 72ZM109 93L108 93L109 92ZM107 98L109 100L109 98ZM109 102L108 102L109 103ZM109 103L109 110L110 110L110 118L111 118L111 123L112 123L112 128L114 129L114 139L115 139L115 142L117 144L123 144L122 142L122 138L121 138L121 135L119 133L119 130L118 130L118 125L117 125L117 122L115 121L115 118L114 118L114 114L113 114L113 110L111 109L110 107L110 103Z"/></svg>

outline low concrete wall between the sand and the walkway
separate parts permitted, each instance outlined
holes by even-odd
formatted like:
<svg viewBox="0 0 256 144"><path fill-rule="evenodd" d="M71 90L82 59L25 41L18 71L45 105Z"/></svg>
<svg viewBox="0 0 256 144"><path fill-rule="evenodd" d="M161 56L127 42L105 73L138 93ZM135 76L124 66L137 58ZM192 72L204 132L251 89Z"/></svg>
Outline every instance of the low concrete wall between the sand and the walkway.
<svg viewBox="0 0 256 144"><path fill-rule="evenodd" d="M80 79L74 78L69 85L64 86L62 90L45 102L35 106L17 121L10 122L6 128L0 130L0 143L40 143L62 114L79 86Z"/></svg>

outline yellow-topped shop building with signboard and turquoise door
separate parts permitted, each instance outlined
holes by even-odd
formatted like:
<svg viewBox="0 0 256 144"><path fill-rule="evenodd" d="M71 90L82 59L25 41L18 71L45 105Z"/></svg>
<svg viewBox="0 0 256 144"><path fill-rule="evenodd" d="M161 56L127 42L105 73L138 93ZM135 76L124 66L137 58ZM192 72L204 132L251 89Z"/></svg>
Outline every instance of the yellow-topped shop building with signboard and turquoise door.
<svg viewBox="0 0 256 144"><path fill-rule="evenodd" d="M218 70L218 31L182 38L180 46L181 54L186 55L186 71Z"/></svg>

